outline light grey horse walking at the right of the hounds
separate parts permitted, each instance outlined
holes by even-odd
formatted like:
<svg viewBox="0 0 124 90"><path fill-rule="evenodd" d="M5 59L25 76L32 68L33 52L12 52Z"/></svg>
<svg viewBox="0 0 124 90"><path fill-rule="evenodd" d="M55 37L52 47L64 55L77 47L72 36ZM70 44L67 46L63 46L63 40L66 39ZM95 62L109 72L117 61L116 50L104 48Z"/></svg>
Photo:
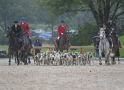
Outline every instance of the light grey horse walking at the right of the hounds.
<svg viewBox="0 0 124 90"><path fill-rule="evenodd" d="M102 65L101 53L105 53L105 64L110 65L109 56L109 42L105 35L104 28L100 28L100 42L99 42L99 65Z"/></svg>

